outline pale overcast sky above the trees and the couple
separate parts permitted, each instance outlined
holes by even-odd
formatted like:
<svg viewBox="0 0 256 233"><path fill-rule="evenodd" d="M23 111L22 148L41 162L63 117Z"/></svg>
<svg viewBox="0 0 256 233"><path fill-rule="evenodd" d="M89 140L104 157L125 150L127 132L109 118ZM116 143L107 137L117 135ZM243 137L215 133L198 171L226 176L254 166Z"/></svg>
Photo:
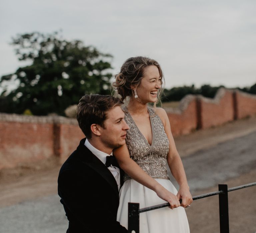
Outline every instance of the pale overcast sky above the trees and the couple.
<svg viewBox="0 0 256 233"><path fill-rule="evenodd" d="M9 45L17 34L62 30L123 62L159 62L165 87L256 83L255 0L1 0L0 77L27 63Z"/></svg>

